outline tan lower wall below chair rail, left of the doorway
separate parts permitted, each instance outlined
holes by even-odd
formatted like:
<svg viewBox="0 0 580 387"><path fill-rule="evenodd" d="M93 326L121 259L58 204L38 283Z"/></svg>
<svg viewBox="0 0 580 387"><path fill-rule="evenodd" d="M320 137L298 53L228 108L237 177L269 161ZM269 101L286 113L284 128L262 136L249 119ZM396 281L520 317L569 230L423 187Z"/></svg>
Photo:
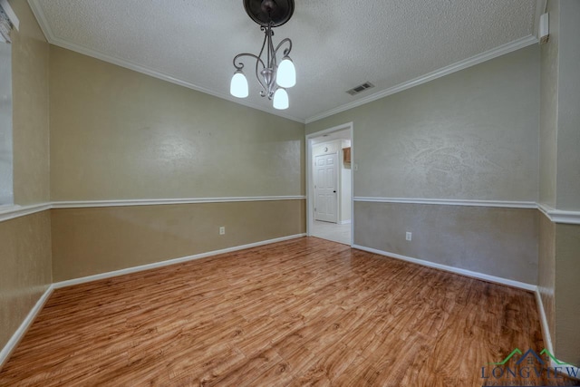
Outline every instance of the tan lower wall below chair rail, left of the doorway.
<svg viewBox="0 0 580 387"><path fill-rule="evenodd" d="M54 209L52 220L54 281L305 232L304 200Z"/></svg>

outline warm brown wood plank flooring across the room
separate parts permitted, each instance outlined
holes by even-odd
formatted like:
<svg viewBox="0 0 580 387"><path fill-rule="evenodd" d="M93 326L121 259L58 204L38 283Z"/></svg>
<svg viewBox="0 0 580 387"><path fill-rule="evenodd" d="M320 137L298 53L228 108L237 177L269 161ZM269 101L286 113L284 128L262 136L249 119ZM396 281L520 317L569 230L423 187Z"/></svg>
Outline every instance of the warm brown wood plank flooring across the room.
<svg viewBox="0 0 580 387"><path fill-rule="evenodd" d="M515 348L532 294L304 237L58 289L0 385L480 386Z"/></svg>

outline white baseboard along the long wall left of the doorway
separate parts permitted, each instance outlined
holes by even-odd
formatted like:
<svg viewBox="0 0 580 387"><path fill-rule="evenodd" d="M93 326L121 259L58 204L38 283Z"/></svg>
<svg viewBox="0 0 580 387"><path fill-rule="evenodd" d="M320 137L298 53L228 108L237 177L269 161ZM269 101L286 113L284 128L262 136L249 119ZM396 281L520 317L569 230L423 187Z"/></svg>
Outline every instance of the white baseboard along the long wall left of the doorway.
<svg viewBox="0 0 580 387"><path fill-rule="evenodd" d="M74 279L69 279L66 281L55 282L53 284L53 287L54 287L54 289L59 289L61 287L84 284L87 282L97 281L100 279L111 278L113 276L124 276L126 274L137 273L137 272L144 271L144 270L150 270L150 269L154 269L154 268L158 268L158 267L180 264L183 262L193 261L195 259L205 258L208 256L218 256L220 254L226 254L226 253L231 253L231 252L238 251L238 250L244 250L246 248L269 245L272 243L283 242L285 240L290 240L290 239L295 239L298 237L305 237L305 236L306 236L306 234L296 234L296 235L288 236L288 237L277 237L275 239L263 240L261 242L250 243L247 245L236 246L236 247L227 247L227 248L223 248L221 250L208 251L207 253L196 254L193 256L182 256L180 258L169 259L167 261L155 262L152 264L141 265L141 266L128 267L126 269L115 270L115 271L111 271L111 272L107 272L107 273L97 274L94 276L83 276L81 278L74 278Z"/></svg>

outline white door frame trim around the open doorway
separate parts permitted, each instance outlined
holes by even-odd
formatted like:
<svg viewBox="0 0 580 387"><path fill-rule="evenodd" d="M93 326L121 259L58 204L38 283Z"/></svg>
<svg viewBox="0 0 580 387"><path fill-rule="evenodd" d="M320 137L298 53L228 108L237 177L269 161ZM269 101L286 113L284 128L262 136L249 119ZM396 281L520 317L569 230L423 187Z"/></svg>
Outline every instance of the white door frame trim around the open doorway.
<svg viewBox="0 0 580 387"><path fill-rule="evenodd" d="M351 131L351 144L354 144L354 131L353 122L346 122L338 126L333 126L332 128L325 129L324 131L316 131L314 133L306 134L306 235L308 237L312 236L312 227L314 225L314 177L313 177L313 162L314 158L312 155L312 140L321 137L324 134L330 134L334 131L343 131L348 129ZM340 157L340 152L338 153ZM354 160L353 145L351 145L351 160ZM340 162L339 162L340 164ZM354 244L354 171L356 167L353 161L351 161L351 247ZM339 171L340 173L340 171Z"/></svg>

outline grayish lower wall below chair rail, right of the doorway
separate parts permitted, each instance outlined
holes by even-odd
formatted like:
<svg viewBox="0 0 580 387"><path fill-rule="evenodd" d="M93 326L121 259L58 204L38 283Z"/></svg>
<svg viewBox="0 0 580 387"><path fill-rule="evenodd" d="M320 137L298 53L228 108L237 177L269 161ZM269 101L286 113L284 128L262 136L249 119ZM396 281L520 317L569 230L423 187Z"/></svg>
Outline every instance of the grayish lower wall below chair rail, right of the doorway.
<svg viewBox="0 0 580 387"><path fill-rule="evenodd" d="M356 245L533 285L537 223L536 209L354 203Z"/></svg>

